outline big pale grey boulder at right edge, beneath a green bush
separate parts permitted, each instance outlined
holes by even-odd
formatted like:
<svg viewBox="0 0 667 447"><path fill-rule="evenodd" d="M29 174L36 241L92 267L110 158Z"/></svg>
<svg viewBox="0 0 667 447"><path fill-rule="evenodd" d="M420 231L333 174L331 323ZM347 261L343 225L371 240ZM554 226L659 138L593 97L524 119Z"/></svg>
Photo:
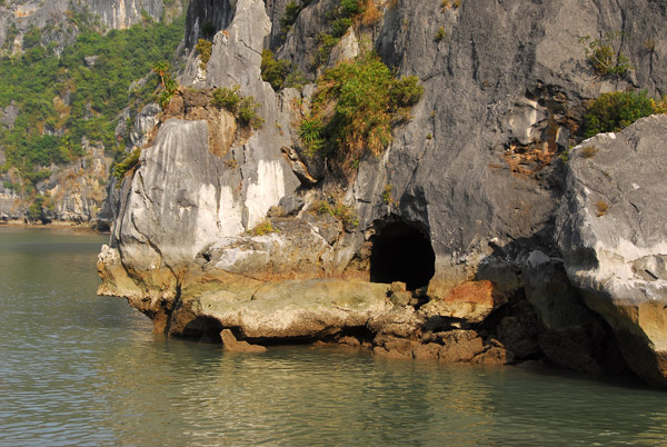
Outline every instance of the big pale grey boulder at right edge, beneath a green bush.
<svg viewBox="0 0 667 447"><path fill-rule="evenodd" d="M629 366L667 385L667 116L573 149L558 245L570 281L614 328Z"/></svg>

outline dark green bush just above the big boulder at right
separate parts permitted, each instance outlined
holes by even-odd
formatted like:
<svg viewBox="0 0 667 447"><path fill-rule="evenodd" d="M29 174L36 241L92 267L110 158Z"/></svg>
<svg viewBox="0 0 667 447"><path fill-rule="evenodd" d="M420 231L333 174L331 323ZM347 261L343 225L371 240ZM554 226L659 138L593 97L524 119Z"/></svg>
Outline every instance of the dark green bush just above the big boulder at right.
<svg viewBox="0 0 667 447"><path fill-rule="evenodd" d="M665 110L648 98L646 90L603 93L590 102L584 116L584 136L590 138L600 132L619 132L639 118Z"/></svg>

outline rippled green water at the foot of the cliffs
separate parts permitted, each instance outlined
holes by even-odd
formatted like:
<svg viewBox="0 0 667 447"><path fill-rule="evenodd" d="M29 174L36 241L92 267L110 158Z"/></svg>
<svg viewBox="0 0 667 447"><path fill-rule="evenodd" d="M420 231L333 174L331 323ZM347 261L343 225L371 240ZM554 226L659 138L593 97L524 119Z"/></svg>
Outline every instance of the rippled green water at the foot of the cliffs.
<svg viewBox="0 0 667 447"><path fill-rule="evenodd" d="M153 336L96 296L106 241L0 227L0 446L667 445L635 383Z"/></svg>

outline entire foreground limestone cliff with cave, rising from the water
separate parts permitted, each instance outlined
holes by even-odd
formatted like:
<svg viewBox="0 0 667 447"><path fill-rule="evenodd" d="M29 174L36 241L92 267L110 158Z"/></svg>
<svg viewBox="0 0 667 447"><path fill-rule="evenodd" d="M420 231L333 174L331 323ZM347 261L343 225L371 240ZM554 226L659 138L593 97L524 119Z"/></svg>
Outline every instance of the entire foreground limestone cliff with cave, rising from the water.
<svg viewBox="0 0 667 447"><path fill-rule="evenodd" d="M667 82L640 63L600 80L577 47L588 23L636 24L634 2L375 2L377 22L350 27L318 70L366 39L425 95L345 178L300 138L317 86L273 91L260 69L270 40L315 79L309 23L337 2L306 6L285 40L271 34L285 2L223 3L190 3L187 40L211 21L211 57L202 68L190 52L118 190L100 294L126 297L157 331L229 350L325 340L667 386L667 116L585 141L575 126L600 91ZM425 42L424 27L438 30L426 17L441 18L447 44ZM206 100L233 85L262 105L263 127L238 131Z"/></svg>

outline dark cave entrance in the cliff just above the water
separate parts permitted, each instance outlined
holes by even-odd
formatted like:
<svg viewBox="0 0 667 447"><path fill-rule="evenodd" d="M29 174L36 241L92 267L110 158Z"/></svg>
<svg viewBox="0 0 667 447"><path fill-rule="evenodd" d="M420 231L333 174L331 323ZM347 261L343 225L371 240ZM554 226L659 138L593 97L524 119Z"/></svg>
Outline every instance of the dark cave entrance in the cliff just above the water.
<svg viewBox="0 0 667 447"><path fill-rule="evenodd" d="M402 281L408 290L428 285L436 272L436 254L421 231L391 222L371 238L371 282Z"/></svg>

